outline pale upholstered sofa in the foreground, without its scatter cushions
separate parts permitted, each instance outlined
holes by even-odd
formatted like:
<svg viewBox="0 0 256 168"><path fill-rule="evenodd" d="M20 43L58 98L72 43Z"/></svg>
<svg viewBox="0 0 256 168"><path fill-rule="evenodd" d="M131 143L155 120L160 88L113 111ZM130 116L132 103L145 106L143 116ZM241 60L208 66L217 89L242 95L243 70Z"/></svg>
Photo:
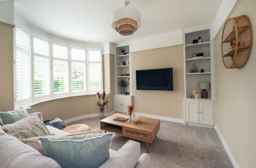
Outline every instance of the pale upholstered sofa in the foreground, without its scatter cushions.
<svg viewBox="0 0 256 168"><path fill-rule="evenodd" d="M52 126L46 126L50 134L68 136ZM129 140L118 151L109 150L109 159L100 168L150 168L148 154L140 154L140 143ZM0 167L1 168L60 168L50 157L43 156L36 149L21 142L18 138L6 134L0 129Z"/></svg>

